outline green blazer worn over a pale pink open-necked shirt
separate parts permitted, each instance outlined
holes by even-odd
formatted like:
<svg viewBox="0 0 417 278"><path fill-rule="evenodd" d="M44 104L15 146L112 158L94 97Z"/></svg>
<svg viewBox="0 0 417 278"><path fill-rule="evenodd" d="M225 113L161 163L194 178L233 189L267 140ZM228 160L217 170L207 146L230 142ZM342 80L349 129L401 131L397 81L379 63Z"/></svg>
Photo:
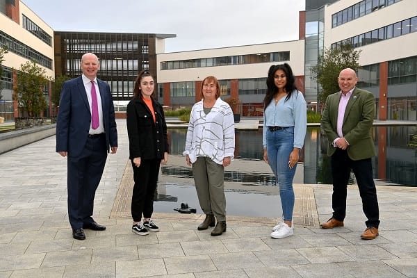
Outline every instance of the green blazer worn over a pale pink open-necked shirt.
<svg viewBox="0 0 417 278"><path fill-rule="evenodd" d="M329 95L326 99L325 111L322 113L321 129L329 139L327 155L332 156L336 148L332 143L338 138L337 114L341 92ZM372 124L375 117L375 102L371 92L354 88L347 102L345 116L343 117L342 132L349 146L347 155L350 159L359 159L375 156L375 146L372 138Z"/></svg>

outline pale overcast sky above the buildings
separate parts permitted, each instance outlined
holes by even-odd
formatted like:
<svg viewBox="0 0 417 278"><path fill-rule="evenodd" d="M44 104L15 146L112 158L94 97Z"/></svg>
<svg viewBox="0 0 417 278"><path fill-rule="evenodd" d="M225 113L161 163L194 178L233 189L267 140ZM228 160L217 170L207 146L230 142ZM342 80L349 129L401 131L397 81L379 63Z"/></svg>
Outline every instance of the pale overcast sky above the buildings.
<svg viewBox="0 0 417 278"><path fill-rule="evenodd" d="M55 31L176 34L165 52L298 39L304 0L22 0Z"/></svg>

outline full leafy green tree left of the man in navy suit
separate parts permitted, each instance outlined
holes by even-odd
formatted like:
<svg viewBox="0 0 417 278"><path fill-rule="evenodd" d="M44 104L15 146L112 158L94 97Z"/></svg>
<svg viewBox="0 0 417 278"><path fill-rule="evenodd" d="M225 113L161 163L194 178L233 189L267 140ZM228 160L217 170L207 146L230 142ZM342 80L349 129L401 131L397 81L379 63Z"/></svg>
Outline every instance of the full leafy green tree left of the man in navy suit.
<svg viewBox="0 0 417 278"><path fill-rule="evenodd" d="M22 114L26 113L29 117L40 116L41 111L47 107L43 94L43 88L48 83L46 72L33 60L20 66L14 99Z"/></svg>

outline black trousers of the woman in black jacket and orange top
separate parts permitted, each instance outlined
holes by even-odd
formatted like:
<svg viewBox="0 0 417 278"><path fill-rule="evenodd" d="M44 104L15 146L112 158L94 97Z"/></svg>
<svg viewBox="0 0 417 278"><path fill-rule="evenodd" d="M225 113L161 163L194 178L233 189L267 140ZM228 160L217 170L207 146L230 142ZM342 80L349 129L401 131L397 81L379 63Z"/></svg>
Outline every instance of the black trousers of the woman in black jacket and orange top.
<svg viewBox="0 0 417 278"><path fill-rule="evenodd" d="M158 182L161 159L140 161L140 166L131 161L133 167L133 186L131 213L134 222L143 218L151 218L154 212L154 193Z"/></svg>

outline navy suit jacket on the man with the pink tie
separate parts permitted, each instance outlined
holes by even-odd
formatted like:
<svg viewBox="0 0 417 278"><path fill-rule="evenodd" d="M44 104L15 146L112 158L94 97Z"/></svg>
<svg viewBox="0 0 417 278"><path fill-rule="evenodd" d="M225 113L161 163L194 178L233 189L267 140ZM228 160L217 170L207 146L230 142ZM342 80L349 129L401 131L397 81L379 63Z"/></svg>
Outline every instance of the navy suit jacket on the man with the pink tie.
<svg viewBox="0 0 417 278"><path fill-rule="evenodd" d="M107 152L117 147L115 108L110 86L97 79L101 107L103 108L104 131ZM91 112L87 92L81 76L66 81L61 90L58 118L56 120L56 152L68 152L68 156L79 156L83 152L90 130Z"/></svg>

